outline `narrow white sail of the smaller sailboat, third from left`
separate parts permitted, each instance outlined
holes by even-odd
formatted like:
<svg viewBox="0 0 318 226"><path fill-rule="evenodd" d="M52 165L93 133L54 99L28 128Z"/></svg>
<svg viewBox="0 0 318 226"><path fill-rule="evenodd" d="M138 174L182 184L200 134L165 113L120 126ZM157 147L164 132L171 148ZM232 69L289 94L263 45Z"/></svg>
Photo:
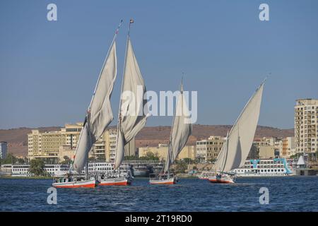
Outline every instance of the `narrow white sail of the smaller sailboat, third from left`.
<svg viewBox="0 0 318 226"><path fill-rule="evenodd" d="M189 136L192 133L192 124L190 113L187 107L183 93L183 85L181 85L180 94L177 97L177 109L173 120L170 145L167 152L167 160L165 162L165 172L168 172L170 165L175 162L177 156L186 145Z"/></svg>

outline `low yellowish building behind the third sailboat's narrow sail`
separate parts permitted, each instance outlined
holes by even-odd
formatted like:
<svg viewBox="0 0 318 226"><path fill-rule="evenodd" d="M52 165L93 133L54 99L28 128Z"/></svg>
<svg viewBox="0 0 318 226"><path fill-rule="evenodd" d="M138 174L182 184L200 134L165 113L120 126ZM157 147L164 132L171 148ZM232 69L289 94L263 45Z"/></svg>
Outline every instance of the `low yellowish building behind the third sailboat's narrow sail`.
<svg viewBox="0 0 318 226"><path fill-rule="evenodd" d="M159 160L165 161L167 158L167 145L159 144L158 147L141 147L138 148L139 157L146 157L147 153L153 153ZM194 145L186 145L182 148L181 152L177 156L177 160L189 158L192 160L196 159L196 147Z"/></svg>

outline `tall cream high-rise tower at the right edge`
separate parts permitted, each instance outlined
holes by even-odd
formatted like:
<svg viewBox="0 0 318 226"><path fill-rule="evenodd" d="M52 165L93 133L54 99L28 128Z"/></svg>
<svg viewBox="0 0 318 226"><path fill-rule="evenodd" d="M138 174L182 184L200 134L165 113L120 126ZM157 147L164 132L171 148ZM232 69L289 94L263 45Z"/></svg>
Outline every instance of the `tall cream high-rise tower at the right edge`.
<svg viewBox="0 0 318 226"><path fill-rule="evenodd" d="M296 153L305 153L310 160L318 150L318 100L300 99L295 105Z"/></svg>

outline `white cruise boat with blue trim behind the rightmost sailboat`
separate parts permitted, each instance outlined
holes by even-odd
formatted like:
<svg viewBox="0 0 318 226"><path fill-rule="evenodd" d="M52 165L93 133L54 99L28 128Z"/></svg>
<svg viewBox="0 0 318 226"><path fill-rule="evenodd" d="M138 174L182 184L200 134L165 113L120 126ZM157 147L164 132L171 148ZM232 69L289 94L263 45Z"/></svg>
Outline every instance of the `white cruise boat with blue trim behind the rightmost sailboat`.
<svg viewBox="0 0 318 226"><path fill-rule="evenodd" d="M284 177L293 174L285 158L246 160L245 165L232 172L237 177Z"/></svg>

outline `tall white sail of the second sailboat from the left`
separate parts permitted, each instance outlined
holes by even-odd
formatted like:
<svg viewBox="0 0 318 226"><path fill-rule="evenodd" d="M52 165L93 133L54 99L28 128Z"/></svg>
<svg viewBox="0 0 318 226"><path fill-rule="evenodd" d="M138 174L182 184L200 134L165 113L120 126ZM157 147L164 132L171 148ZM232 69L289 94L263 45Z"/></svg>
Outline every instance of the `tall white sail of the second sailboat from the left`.
<svg viewBox="0 0 318 226"><path fill-rule="evenodd" d="M146 125L148 105L143 100L145 93L146 86L128 36L114 169L118 169L124 160L124 146Z"/></svg>

